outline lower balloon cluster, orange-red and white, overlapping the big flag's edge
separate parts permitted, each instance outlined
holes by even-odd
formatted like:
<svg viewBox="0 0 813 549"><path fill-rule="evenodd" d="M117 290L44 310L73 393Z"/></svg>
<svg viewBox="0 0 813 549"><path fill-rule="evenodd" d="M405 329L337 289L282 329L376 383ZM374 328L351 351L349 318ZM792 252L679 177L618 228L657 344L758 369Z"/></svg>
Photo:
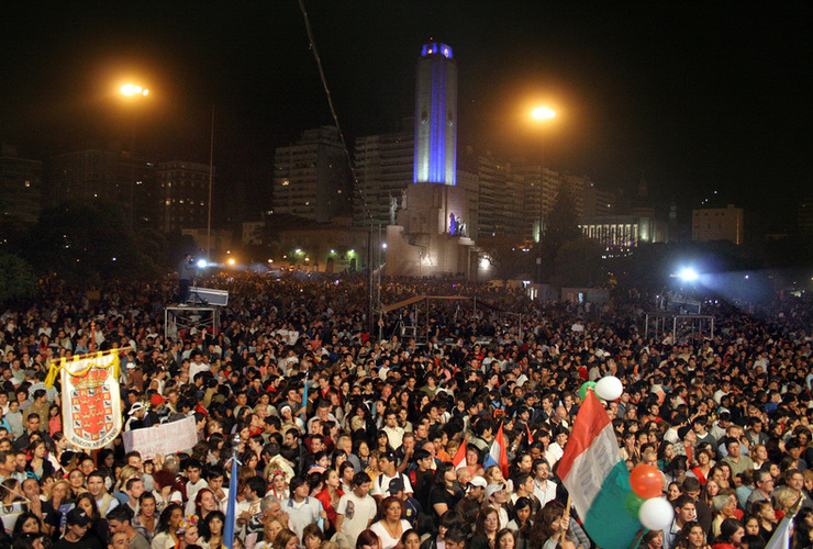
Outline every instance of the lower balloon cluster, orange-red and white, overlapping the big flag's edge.
<svg viewBox="0 0 813 549"><path fill-rule="evenodd" d="M672 524L675 509L662 496L664 473L657 467L639 464L630 472L632 492L624 502L626 511L638 516L645 528L662 530Z"/></svg>

